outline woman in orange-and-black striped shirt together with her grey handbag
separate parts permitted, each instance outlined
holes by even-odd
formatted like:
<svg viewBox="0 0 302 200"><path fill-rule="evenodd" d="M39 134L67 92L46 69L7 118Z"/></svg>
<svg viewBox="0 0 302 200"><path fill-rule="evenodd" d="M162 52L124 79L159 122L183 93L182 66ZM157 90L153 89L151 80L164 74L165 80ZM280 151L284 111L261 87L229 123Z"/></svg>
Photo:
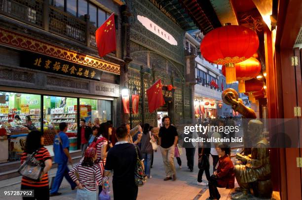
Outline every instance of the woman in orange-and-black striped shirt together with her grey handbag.
<svg viewBox="0 0 302 200"><path fill-rule="evenodd" d="M19 168L22 175L21 190L34 190L35 196L23 198L24 200L49 200L47 172L51 168L52 161L43 145L44 137L40 131L35 130L28 134L25 151L21 156L22 165Z"/></svg>

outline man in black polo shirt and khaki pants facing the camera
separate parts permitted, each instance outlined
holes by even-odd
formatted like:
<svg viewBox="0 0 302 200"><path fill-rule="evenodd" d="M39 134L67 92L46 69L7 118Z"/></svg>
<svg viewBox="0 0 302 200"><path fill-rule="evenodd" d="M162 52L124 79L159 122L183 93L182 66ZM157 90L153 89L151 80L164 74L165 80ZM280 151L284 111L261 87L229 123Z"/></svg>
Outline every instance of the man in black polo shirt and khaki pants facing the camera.
<svg viewBox="0 0 302 200"><path fill-rule="evenodd" d="M176 171L174 166L174 150L178 141L176 128L170 124L170 117L163 117L164 126L159 129L159 140L162 160L165 166L166 180L176 180Z"/></svg>

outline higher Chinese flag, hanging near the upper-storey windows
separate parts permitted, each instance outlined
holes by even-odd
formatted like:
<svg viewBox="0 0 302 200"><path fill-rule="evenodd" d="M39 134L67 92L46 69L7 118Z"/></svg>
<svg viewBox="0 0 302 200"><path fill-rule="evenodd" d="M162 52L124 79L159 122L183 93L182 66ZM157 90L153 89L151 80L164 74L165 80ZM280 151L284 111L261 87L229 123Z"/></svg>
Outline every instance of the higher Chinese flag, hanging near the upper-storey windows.
<svg viewBox="0 0 302 200"><path fill-rule="evenodd" d="M96 30L95 39L100 57L116 50L114 13Z"/></svg>

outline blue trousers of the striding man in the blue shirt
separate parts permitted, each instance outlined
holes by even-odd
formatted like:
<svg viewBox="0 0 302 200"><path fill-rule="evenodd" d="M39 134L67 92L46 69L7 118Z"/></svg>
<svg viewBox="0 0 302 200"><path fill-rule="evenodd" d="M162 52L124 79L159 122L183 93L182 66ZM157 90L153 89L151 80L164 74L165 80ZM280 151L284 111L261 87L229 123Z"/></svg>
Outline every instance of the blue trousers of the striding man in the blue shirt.
<svg viewBox="0 0 302 200"><path fill-rule="evenodd" d="M76 183L71 179L68 172L69 172L69 169L68 169L67 163L58 163L58 170L56 173L56 177L51 186L51 191L50 191L51 194L58 192L60 185L63 181L63 177L66 178L66 180L71 185L72 189L76 187Z"/></svg>

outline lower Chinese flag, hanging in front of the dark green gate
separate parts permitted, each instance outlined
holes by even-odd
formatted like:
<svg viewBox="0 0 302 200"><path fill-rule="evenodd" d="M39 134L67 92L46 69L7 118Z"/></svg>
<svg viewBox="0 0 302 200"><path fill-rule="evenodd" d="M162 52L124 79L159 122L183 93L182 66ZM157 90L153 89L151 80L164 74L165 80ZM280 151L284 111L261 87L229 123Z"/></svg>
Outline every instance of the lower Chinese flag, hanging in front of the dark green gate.
<svg viewBox="0 0 302 200"><path fill-rule="evenodd" d="M148 105L149 105L149 111L152 113L157 108L163 106L165 104L165 100L162 96L162 85L161 80L153 84L149 89L147 89L147 97L148 97Z"/></svg>

